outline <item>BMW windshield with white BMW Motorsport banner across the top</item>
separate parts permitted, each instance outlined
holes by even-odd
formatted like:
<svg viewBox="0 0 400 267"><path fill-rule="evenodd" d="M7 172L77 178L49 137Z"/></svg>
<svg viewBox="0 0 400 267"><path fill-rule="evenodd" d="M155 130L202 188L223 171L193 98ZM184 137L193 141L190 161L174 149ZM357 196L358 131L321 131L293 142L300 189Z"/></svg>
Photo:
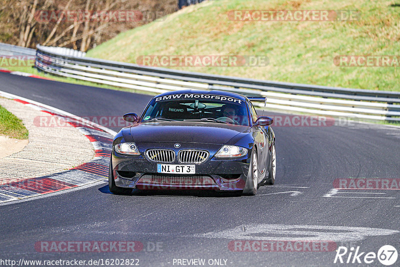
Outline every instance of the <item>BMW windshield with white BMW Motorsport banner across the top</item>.
<svg viewBox="0 0 400 267"><path fill-rule="evenodd" d="M140 122L155 120L201 120L249 125L245 101L210 94L172 94L155 97L141 116Z"/></svg>

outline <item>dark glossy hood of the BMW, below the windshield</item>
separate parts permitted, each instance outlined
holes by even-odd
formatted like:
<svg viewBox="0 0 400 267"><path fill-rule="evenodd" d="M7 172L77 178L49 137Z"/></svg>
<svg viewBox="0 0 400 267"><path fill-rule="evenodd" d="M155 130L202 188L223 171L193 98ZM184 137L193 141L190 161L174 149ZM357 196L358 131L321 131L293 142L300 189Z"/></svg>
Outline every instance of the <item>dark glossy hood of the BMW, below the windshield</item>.
<svg viewBox="0 0 400 267"><path fill-rule="evenodd" d="M134 142L196 142L224 144L249 126L200 121L160 121L130 126Z"/></svg>

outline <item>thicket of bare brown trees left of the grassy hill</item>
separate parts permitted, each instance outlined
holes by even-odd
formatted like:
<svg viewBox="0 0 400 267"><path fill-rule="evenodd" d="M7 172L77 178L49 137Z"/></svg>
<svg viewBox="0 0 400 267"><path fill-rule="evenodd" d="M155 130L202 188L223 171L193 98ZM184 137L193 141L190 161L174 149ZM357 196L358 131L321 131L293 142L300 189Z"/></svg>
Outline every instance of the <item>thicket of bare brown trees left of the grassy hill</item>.
<svg viewBox="0 0 400 267"><path fill-rule="evenodd" d="M43 15L41 19L42 10L57 16ZM65 19L65 10L89 14L111 10L167 14L176 10L176 0L0 0L0 41L25 47L40 43L86 51L121 31L149 22L108 21L87 16Z"/></svg>

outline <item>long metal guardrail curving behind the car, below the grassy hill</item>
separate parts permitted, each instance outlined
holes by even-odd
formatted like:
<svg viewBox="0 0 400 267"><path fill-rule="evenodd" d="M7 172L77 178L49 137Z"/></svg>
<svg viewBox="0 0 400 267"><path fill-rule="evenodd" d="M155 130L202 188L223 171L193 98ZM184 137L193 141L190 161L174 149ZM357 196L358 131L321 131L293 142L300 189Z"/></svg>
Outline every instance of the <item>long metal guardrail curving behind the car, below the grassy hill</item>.
<svg viewBox="0 0 400 267"><path fill-rule="evenodd" d="M35 66L45 72L117 87L161 93L226 90L266 96L268 108L367 120L400 121L400 92L276 82L188 72L65 54L37 45Z"/></svg>

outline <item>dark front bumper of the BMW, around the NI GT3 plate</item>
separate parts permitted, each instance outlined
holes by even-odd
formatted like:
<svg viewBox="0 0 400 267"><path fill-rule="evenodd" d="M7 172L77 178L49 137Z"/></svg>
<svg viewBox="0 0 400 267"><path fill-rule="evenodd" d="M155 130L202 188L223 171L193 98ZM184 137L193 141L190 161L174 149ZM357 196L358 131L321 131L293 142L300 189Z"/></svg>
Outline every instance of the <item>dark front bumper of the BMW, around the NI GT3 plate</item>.
<svg viewBox="0 0 400 267"><path fill-rule="evenodd" d="M250 166L251 152L237 159L216 159L213 155L221 147L219 144L181 143L174 148L173 143L141 143L136 144L141 155L122 155L112 150L112 172L115 185L138 189L210 189L210 190L243 190ZM154 146L156 145L156 147ZM167 148L178 154L180 149L205 149L209 158L200 164L195 164L195 174L157 173L157 164L144 155L146 149ZM145 147L142 148L142 147ZM175 161L168 164L180 164Z"/></svg>

